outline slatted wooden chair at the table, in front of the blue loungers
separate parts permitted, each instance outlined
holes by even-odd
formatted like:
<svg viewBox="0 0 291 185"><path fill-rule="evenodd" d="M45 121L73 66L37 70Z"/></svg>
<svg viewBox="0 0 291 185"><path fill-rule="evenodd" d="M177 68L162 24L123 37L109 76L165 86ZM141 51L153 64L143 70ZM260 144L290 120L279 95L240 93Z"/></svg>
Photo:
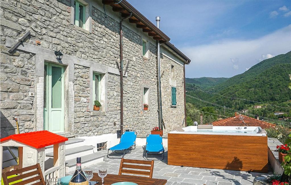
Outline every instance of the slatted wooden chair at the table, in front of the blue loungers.
<svg viewBox="0 0 291 185"><path fill-rule="evenodd" d="M130 163L130 164L125 164ZM145 165L136 165L136 164L145 164ZM124 169L129 168L129 169ZM133 170L132 170L133 169ZM138 169L138 170L134 170ZM132 159L124 159L122 158L120 161L120 167L118 175L125 174L135 174L135 175L145 175L149 176L149 178L152 178L152 173L154 170L154 161L142 161L142 160L132 160Z"/></svg>

